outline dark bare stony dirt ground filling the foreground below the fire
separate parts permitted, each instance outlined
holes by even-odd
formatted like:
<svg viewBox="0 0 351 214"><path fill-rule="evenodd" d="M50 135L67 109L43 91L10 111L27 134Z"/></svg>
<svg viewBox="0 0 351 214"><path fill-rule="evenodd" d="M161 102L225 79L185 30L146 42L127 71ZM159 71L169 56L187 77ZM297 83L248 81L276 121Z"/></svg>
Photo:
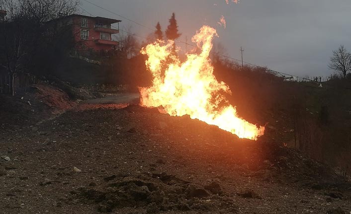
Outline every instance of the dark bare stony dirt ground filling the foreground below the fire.
<svg viewBox="0 0 351 214"><path fill-rule="evenodd" d="M82 104L0 133L1 213L351 212L350 183L281 146L276 130L240 140L126 106Z"/></svg>

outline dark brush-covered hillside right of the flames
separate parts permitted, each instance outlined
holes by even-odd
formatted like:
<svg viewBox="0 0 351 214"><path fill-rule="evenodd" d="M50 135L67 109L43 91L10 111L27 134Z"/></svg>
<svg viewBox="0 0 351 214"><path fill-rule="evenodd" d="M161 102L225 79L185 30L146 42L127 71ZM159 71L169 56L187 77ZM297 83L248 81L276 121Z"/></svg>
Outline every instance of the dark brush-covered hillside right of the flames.
<svg viewBox="0 0 351 214"><path fill-rule="evenodd" d="M350 80L333 79L319 88L314 82L284 82L261 68L242 70L223 62L215 64L215 75L230 86L229 99L240 116L273 126L273 138L282 145L290 142L310 157L351 173Z"/></svg>

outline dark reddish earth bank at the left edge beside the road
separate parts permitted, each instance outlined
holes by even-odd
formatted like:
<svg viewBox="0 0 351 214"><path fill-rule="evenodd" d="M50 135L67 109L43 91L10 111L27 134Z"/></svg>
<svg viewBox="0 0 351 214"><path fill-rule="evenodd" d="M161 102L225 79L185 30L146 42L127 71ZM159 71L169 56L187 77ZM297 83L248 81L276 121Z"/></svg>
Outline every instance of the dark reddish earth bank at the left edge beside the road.
<svg viewBox="0 0 351 214"><path fill-rule="evenodd" d="M0 102L0 132L33 125L75 105L65 92L44 82L15 96L0 94Z"/></svg>

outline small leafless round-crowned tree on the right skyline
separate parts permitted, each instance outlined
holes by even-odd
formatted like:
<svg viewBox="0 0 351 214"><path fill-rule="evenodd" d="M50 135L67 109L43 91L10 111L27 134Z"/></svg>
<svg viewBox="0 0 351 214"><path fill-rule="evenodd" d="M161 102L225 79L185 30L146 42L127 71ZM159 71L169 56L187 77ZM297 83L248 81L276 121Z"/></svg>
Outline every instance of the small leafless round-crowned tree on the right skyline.
<svg viewBox="0 0 351 214"><path fill-rule="evenodd" d="M329 68L343 73L344 78L348 71L351 71L351 53L348 52L344 45L340 45L339 49L333 51L330 58Z"/></svg>

